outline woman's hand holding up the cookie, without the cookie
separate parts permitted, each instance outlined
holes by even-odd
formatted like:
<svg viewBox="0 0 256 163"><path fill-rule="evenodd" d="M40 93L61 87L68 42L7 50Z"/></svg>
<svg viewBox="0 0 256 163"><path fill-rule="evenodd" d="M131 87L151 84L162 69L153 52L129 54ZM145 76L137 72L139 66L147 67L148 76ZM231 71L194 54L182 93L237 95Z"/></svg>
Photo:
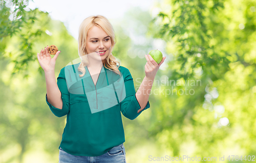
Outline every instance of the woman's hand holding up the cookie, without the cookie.
<svg viewBox="0 0 256 163"><path fill-rule="evenodd" d="M48 48L49 47L47 45L47 47L45 47L45 49L41 49L40 54L37 52L37 59L38 59L40 66L42 67L42 69L45 72L49 72L49 71L54 72L55 62L56 62L56 59L57 59L60 51L57 51L55 56L53 58L51 58L50 53L48 52Z"/></svg>

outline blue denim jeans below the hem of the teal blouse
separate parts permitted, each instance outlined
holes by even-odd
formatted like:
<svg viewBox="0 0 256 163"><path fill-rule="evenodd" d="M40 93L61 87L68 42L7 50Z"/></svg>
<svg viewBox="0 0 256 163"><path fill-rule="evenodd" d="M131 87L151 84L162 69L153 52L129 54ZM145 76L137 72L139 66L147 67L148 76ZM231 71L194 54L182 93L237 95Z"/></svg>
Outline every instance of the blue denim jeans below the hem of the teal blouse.
<svg viewBox="0 0 256 163"><path fill-rule="evenodd" d="M59 149L59 163L126 163L123 143L100 156L75 156Z"/></svg>

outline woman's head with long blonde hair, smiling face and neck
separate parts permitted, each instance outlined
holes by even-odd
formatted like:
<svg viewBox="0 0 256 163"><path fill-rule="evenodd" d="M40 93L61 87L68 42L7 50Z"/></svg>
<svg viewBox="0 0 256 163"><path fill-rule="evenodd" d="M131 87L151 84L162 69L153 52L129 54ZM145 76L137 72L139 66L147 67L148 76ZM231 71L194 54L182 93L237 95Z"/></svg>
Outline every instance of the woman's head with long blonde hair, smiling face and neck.
<svg viewBox="0 0 256 163"><path fill-rule="evenodd" d="M120 74L117 63L112 55L116 44L115 33L109 20L102 15L90 16L82 21L79 27L78 53L82 60L78 71L82 77L86 73L84 66L98 73L103 66Z"/></svg>

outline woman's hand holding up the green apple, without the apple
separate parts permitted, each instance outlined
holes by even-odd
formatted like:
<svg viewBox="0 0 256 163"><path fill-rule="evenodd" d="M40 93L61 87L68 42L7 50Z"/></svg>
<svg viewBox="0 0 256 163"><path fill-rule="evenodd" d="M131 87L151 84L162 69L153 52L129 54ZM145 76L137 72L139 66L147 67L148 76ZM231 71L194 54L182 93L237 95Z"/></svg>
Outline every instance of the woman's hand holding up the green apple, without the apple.
<svg viewBox="0 0 256 163"><path fill-rule="evenodd" d="M151 55L145 55L146 65L145 65L145 74L148 79L154 80L159 67L162 65L166 57L162 58L162 61L157 64L157 62L151 57Z"/></svg>

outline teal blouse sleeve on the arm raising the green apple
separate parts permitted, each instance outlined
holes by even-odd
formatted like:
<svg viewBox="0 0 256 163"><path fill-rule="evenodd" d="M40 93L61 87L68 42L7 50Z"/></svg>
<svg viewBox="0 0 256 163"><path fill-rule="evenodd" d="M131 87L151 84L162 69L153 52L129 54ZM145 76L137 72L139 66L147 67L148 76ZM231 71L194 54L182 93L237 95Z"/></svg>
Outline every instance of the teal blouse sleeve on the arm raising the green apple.
<svg viewBox="0 0 256 163"><path fill-rule="evenodd" d="M150 107L150 102L147 101L146 106L143 108L141 112L138 113L140 110L139 102L135 96L135 88L133 77L128 69L126 69L126 74L124 75L124 86L125 86L125 98L120 102L121 104L121 112L124 117L134 120L137 118L143 111Z"/></svg>

